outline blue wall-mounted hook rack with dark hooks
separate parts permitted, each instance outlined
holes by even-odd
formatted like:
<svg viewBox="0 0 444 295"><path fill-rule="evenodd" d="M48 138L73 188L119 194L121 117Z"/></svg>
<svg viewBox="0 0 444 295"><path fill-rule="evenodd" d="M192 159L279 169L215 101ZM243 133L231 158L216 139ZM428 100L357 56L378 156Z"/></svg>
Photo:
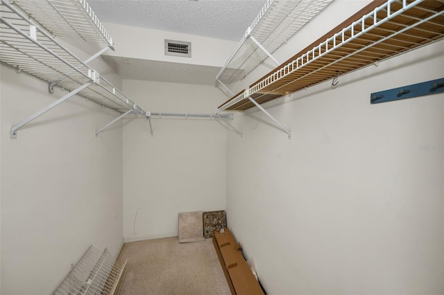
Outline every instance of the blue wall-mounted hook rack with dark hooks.
<svg viewBox="0 0 444 295"><path fill-rule="evenodd" d="M371 93L370 104L428 96L441 92L444 92L444 78Z"/></svg>

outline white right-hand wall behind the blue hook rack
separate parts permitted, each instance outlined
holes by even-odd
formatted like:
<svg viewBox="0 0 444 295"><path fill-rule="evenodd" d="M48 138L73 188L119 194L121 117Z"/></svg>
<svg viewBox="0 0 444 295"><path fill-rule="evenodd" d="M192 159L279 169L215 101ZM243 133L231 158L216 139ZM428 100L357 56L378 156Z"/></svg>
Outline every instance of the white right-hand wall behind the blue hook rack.
<svg viewBox="0 0 444 295"><path fill-rule="evenodd" d="M353 4L310 26L333 27ZM257 109L234 120L244 136L228 134L228 226L268 294L443 294L444 95L370 105L372 92L443 78L443 48L266 104L291 140Z"/></svg>

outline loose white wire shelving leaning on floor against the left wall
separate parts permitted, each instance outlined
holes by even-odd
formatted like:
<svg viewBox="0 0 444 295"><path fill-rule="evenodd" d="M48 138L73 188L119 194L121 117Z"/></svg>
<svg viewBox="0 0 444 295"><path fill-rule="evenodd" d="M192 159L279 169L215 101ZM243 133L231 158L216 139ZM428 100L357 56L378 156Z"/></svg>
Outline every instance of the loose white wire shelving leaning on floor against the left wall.
<svg viewBox="0 0 444 295"><path fill-rule="evenodd" d="M117 262L108 249L101 252L90 246L53 295L119 294L125 271L126 262Z"/></svg>

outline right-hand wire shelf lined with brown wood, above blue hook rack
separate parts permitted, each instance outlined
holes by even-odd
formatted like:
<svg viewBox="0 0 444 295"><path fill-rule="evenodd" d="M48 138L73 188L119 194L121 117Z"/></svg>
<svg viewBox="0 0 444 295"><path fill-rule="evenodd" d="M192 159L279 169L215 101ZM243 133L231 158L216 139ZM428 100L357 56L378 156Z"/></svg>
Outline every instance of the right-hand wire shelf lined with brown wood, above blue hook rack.
<svg viewBox="0 0 444 295"><path fill-rule="evenodd" d="M373 1L276 69L233 96L220 111L255 104L325 82L338 75L444 38L443 0Z"/></svg>

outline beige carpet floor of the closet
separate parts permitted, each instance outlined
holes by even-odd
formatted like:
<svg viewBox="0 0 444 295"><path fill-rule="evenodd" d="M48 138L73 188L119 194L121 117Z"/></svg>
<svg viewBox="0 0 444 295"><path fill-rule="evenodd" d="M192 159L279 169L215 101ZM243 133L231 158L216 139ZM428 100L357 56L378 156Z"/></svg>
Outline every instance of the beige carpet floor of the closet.
<svg viewBox="0 0 444 295"><path fill-rule="evenodd" d="M123 245L117 259L128 260L121 295L231 294L212 239L131 242Z"/></svg>

